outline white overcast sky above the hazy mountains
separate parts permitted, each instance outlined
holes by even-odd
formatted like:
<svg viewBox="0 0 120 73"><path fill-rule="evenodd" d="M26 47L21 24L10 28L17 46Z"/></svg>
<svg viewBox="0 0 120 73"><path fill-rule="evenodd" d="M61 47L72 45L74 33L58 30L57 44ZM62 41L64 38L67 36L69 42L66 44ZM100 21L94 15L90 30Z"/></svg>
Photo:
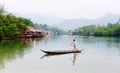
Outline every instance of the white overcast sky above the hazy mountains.
<svg viewBox="0 0 120 73"><path fill-rule="evenodd" d="M63 18L98 18L120 14L120 0L0 0L7 11L21 14L50 14Z"/></svg>

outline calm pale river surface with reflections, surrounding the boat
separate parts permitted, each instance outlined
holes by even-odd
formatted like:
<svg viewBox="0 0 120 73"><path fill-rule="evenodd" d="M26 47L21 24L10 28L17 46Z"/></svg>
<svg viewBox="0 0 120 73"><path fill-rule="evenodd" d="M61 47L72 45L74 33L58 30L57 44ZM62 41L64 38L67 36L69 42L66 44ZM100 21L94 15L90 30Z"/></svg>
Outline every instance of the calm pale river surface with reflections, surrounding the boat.
<svg viewBox="0 0 120 73"><path fill-rule="evenodd" d="M82 53L45 55L45 50L71 50L72 39ZM0 73L120 73L120 39L54 36L0 41Z"/></svg>

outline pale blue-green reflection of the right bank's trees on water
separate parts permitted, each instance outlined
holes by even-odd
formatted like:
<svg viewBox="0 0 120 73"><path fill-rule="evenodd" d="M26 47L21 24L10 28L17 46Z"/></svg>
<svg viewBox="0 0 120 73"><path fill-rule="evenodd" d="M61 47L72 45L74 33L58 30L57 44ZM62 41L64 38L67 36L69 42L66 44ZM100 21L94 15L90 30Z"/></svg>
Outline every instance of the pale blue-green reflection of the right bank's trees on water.
<svg viewBox="0 0 120 73"><path fill-rule="evenodd" d="M78 36L78 41L82 41L83 43L87 44L96 44L105 45L108 48L116 47L120 48L120 38L118 37L93 37L93 36Z"/></svg>

